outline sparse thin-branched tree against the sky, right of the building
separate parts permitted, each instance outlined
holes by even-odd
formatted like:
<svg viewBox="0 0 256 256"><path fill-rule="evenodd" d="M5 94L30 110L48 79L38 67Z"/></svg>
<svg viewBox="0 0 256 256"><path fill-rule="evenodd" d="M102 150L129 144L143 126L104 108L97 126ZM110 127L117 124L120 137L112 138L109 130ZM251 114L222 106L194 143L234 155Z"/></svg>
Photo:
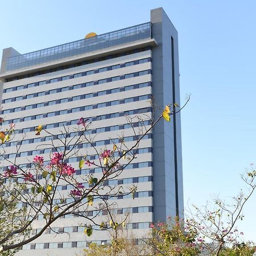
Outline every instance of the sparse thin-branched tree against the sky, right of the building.
<svg viewBox="0 0 256 256"><path fill-rule="evenodd" d="M238 232L237 222L243 220L243 207L255 191L255 177L256 171L252 164L242 175L247 192L241 190L229 202L217 198L213 199L212 205L203 208L193 205L195 210L190 210L186 224L189 230L196 230L197 241L204 247L205 255L246 255L236 254L249 248L248 243L241 242L243 232ZM231 254L232 251L234 254Z"/></svg>

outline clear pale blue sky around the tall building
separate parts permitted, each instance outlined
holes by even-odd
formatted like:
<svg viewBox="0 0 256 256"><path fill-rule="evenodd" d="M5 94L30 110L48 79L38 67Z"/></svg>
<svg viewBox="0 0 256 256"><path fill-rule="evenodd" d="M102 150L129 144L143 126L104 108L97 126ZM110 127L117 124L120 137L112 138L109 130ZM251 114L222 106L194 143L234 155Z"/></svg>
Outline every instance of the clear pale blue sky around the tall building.
<svg viewBox="0 0 256 256"><path fill-rule="evenodd" d="M191 93L182 113L185 206L200 206L236 195L256 162L256 1L0 0L0 49L26 53L148 22L160 6L179 32L181 98ZM238 228L256 242L256 193L244 213Z"/></svg>

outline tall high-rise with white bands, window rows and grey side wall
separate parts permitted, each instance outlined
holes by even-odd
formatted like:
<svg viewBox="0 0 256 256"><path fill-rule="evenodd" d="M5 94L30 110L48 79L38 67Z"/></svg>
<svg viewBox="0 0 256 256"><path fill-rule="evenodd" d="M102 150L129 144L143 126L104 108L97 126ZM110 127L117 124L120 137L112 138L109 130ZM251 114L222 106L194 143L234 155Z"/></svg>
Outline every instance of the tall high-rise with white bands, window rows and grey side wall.
<svg viewBox="0 0 256 256"><path fill-rule="evenodd" d="M52 148L46 141L52 136L35 135L42 124L52 134L60 134L63 125L76 127L80 117L90 118L90 132L97 134L95 146L108 147L112 138L118 143L121 133L127 145L134 143L133 129L126 115L152 115L151 97L162 109L166 104L179 104L179 57L177 31L162 8L151 10L150 22L60 46L20 54L13 48L3 49L0 73L2 88L1 115L4 127L16 125L14 141L6 143L6 157L16 156L16 164L26 166L35 155L49 159ZM158 108L156 114L160 114ZM150 123L147 123L150 125ZM15 145L22 145L18 155ZM128 229L134 236L144 237L150 223L165 221L167 216L183 216L183 177L181 160L180 114L171 122L158 123L139 145L137 158L113 184L138 185L135 199L120 196L116 214L129 209ZM93 148L86 148L93 152ZM93 159L93 156L92 158ZM79 170L78 158L69 159ZM7 162L2 162L6 168ZM94 175L97 168L89 170ZM60 190L66 193L68 185ZM93 213L91 213L93 214ZM97 218L101 218L100 216ZM33 224L32 233L42 228L43 216ZM17 255L75 255L93 241L109 240L101 230L86 237L85 221L66 216L57 220L52 229L67 232L56 234L47 229L43 236L24 245Z"/></svg>

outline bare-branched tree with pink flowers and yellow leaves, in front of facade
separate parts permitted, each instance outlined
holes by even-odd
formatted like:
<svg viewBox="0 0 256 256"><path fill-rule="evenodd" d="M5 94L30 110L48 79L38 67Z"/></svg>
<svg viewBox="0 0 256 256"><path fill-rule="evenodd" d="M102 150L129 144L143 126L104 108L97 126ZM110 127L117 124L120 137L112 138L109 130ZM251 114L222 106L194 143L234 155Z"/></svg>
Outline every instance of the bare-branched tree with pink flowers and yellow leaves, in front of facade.
<svg viewBox="0 0 256 256"><path fill-rule="evenodd" d="M133 146L127 146L125 138L122 137L118 143L113 142L110 148L105 147L100 151L95 146L94 137L89 133L89 119L80 118L77 128L72 131L63 127L61 136L51 134L44 130L42 125L39 125L35 130L36 135L46 133L53 138L47 144L52 148L49 160L46 161L43 156L36 155L26 167L17 164L16 157L13 161L5 158L5 143L14 138L14 125L12 124L5 131L0 131L3 150L0 156L2 160L9 163L9 167L0 175L0 194L2 196L0 221L2 226L8 226L4 232L1 232L0 246L2 247L0 250L3 253L11 253L11 250L16 250L26 243L34 241L46 229L51 229L56 220L68 214L84 217L88 221L88 224L84 226L84 232L88 236L92 235L92 225L98 226L99 229L117 230L125 220L117 222L111 217L110 209L114 203L110 203L109 199L120 194L134 195L137 188L135 185L124 189L121 185L109 186L106 184L109 180L118 177L125 170L127 164L133 161L137 155L139 143L147 134L151 133L152 128L160 119L164 118L166 121L170 121L170 115L176 114L182 109L176 111L175 107L178 107L177 104L166 106L163 113L155 120L151 116L127 117L136 138ZM3 119L1 120L3 122ZM148 121L150 125L148 125ZM137 127L134 127L135 122L138 124ZM93 148L97 156L95 160L86 154L85 149L81 150L80 145L84 143ZM20 146L17 146L16 153L19 152L19 149ZM68 163L73 156L80 158L80 170L84 166L92 166L99 168L100 175L97 177L93 174L75 176L75 168ZM64 196L57 189L62 184L72 187L69 192L71 200L67 200L67 195ZM96 200L100 203L95 203ZM8 202L10 205L6 207ZM96 216L89 215L92 210L96 210ZM108 211L111 221L97 223L95 218L103 210ZM39 214L44 216L44 225L40 232L32 234L30 233L31 225Z"/></svg>

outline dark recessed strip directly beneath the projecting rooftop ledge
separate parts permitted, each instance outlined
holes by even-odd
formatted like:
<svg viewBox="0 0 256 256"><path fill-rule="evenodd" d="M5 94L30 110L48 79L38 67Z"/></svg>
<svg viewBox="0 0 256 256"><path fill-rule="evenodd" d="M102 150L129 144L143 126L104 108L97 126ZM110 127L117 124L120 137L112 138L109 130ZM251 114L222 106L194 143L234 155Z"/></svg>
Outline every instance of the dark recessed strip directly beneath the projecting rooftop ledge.
<svg viewBox="0 0 256 256"><path fill-rule="evenodd" d="M105 57L100 57L98 59L84 60L84 61L81 61L81 62L75 63L75 64L63 65L63 66L60 66L60 67L57 67L57 68L51 68L51 69L46 69L44 71L38 71L38 72L35 72L35 73L28 73L28 74L22 75L22 76L11 77L9 79L6 79L5 82L25 79L27 77L40 76L40 75L44 75L44 74L47 74L47 73L61 71L61 70L64 70L64 69L75 68L75 67L79 67L79 66L82 66L82 65L88 65L88 64L96 63L96 62L99 62L99 61L110 60L110 59L114 59L114 58L122 57L122 56L126 56L126 55L131 55L131 54L138 53L138 52L148 51L150 49L151 49L151 47L144 47L144 48L134 49L134 50L127 51L127 52L108 55L108 56L105 56Z"/></svg>

